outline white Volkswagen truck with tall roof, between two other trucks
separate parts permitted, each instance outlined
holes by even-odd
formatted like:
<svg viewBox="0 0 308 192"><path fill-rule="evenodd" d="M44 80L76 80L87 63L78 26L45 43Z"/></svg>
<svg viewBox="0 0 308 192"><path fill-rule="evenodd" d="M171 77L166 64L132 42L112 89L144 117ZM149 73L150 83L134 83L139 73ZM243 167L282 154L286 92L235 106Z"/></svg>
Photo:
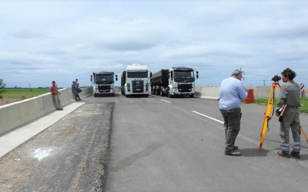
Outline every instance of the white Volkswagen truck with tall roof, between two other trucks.
<svg viewBox="0 0 308 192"><path fill-rule="evenodd" d="M140 64L128 65L121 75L121 94L149 96L148 67Z"/></svg>

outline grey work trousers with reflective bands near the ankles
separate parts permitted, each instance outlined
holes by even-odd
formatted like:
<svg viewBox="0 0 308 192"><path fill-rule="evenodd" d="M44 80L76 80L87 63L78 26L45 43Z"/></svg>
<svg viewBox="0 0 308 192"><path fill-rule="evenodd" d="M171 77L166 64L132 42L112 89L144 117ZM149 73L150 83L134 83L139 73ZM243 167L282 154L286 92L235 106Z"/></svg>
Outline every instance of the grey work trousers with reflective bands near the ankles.
<svg viewBox="0 0 308 192"><path fill-rule="evenodd" d="M294 140L293 151L299 152L301 150L301 129L299 124L298 108L287 106L282 115L282 122L280 122L279 130L279 135L281 137L280 147L282 150L290 150L290 128Z"/></svg>

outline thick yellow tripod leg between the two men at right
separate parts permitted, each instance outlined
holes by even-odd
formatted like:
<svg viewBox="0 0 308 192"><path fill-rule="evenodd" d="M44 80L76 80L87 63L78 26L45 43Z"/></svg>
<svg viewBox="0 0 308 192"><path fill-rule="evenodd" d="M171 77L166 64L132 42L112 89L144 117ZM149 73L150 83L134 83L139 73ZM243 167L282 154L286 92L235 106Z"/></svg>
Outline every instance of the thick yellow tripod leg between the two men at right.
<svg viewBox="0 0 308 192"><path fill-rule="evenodd" d="M265 117L264 117L264 121L263 121L263 126L262 126L262 129L261 129L261 134L260 134L260 146L259 146L259 150L262 149L262 146L263 146L263 142L264 142L264 139L265 139L265 134L266 134L266 128L268 127L268 122L267 120L271 118L270 116L270 112L272 111L273 109L273 105L274 105L274 99L272 98L272 92L273 92L273 89L274 89L274 94L276 93L276 89L277 89L277 82L274 82L272 84L272 88L270 90L270 96L269 96L269 100L268 100L268 103L267 103L267 106L266 106L266 111L265 111ZM278 84L279 85L279 84ZM279 85L280 87L280 85Z"/></svg>

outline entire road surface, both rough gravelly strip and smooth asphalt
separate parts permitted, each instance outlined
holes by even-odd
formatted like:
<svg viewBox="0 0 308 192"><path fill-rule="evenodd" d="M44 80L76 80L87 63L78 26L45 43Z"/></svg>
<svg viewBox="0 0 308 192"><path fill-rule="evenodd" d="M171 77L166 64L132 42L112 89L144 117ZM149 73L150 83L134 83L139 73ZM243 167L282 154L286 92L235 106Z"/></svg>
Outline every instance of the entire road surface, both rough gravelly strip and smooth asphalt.
<svg viewBox="0 0 308 192"><path fill-rule="evenodd" d="M0 162L0 191L307 191L303 136L300 159L278 156L273 117L259 151L263 105L242 104L242 156L233 157L224 155L218 100L116 94L83 102L19 147L22 161L11 153ZM308 135L307 115L300 119ZM34 158L37 149L51 154Z"/></svg>

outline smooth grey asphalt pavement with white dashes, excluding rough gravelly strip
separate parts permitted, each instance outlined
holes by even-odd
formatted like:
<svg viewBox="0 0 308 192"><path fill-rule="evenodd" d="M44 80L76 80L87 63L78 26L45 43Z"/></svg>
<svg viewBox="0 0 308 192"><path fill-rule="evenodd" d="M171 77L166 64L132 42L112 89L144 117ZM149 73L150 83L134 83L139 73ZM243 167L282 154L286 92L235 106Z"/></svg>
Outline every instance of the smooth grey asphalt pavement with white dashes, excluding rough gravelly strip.
<svg viewBox="0 0 308 192"><path fill-rule="evenodd" d="M265 106L242 104L236 141L242 156L233 157L224 155L218 100L115 100L106 191L307 191L304 137L300 159L278 156L279 122L273 117L259 151ZM308 134L307 115L300 118Z"/></svg>

